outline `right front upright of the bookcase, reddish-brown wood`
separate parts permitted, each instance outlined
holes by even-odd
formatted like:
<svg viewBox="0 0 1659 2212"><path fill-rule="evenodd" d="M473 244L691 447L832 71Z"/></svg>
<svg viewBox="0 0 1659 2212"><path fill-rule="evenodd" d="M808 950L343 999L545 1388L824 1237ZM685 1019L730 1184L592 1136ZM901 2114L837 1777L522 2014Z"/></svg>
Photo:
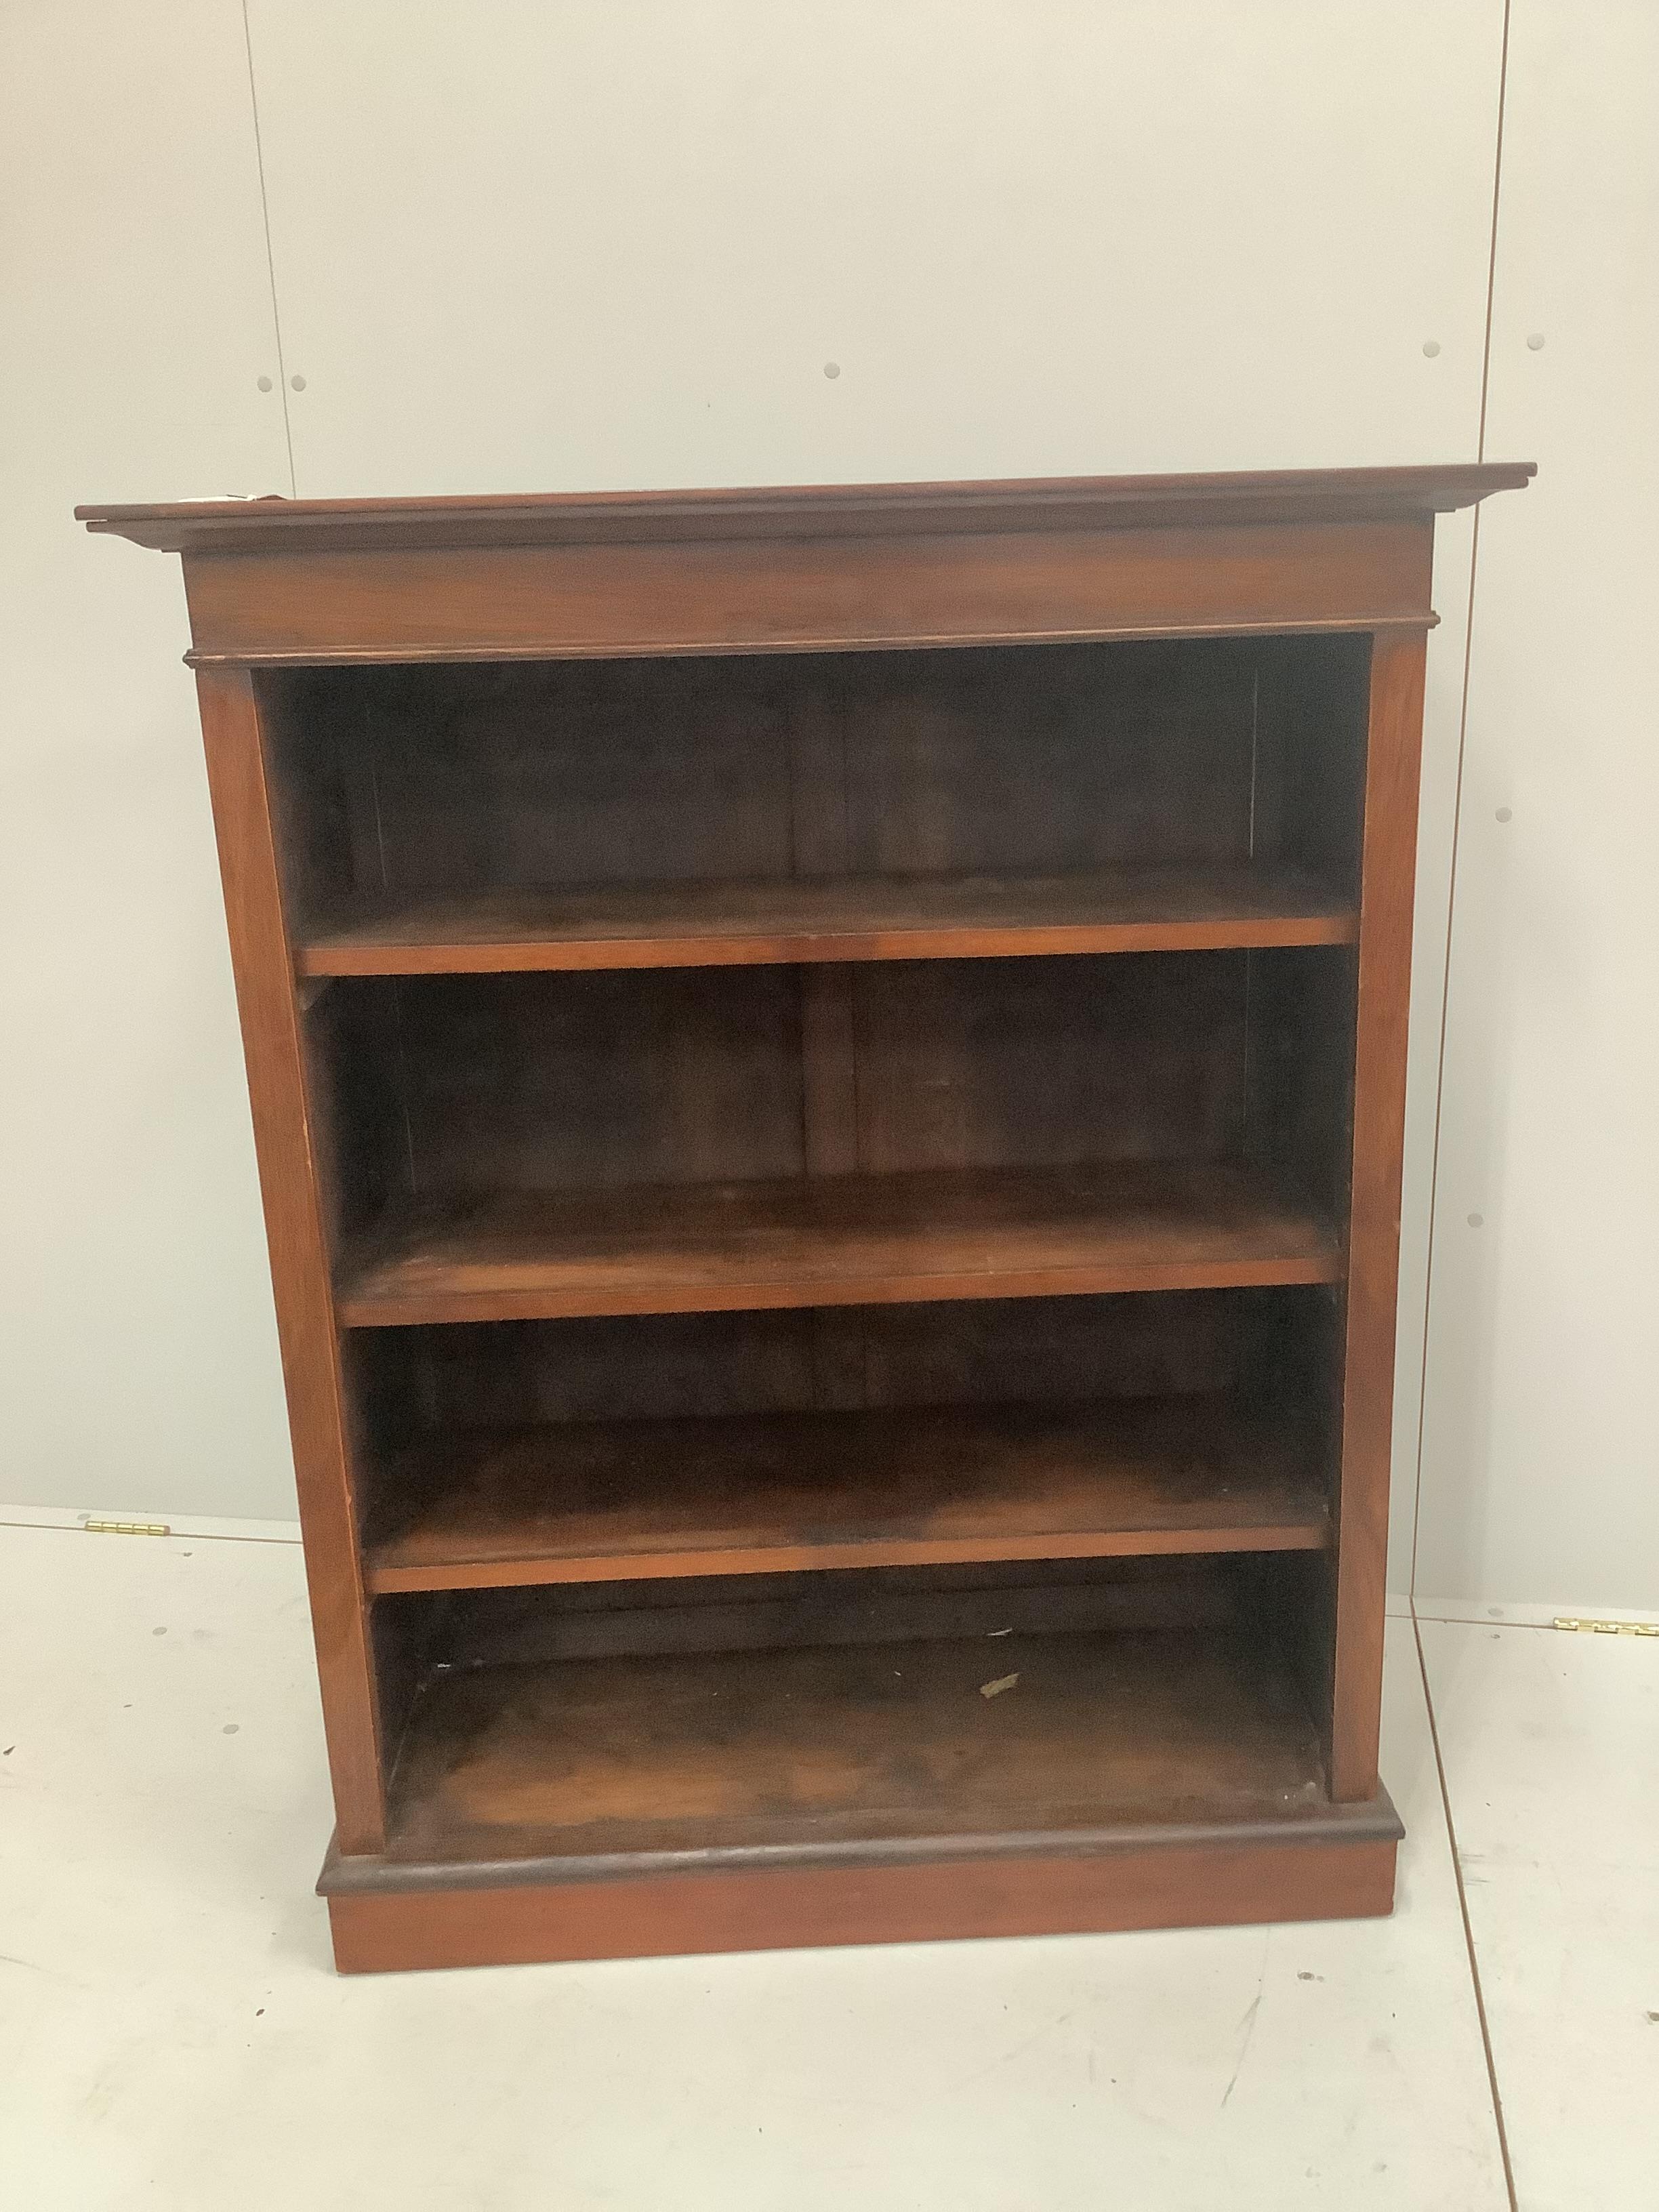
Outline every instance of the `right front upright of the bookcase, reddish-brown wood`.
<svg viewBox="0 0 1659 2212"><path fill-rule="evenodd" d="M1416 635L1385 633L1371 648L1332 1708L1338 1798L1376 1790L1383 1714L1422 661Z"/></svg>

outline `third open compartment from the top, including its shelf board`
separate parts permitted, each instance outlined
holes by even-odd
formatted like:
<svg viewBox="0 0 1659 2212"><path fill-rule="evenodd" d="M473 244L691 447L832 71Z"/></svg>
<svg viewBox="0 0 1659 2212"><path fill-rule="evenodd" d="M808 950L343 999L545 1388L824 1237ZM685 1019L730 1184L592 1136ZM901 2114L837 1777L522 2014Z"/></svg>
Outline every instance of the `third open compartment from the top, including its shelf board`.
<svg viewBox="0 0 1659 2212"><path fill-rule="evenodd" d="M363 1332L369 1588L1325 1551L1323 1287Z"/></svg>

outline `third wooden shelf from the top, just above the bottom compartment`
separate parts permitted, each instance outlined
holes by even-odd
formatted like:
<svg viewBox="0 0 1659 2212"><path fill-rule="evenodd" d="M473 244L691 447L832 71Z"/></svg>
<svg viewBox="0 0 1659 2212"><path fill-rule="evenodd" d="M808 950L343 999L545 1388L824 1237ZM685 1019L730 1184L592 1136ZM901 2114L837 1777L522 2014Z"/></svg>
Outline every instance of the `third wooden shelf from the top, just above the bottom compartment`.
<svg viewBox="0 0 1659 2212"><path fill-rule="evenodd" d="M376 1593L1329 1540L1310 1438L1208 1394L462 1431L383 1495Z"/></svg>

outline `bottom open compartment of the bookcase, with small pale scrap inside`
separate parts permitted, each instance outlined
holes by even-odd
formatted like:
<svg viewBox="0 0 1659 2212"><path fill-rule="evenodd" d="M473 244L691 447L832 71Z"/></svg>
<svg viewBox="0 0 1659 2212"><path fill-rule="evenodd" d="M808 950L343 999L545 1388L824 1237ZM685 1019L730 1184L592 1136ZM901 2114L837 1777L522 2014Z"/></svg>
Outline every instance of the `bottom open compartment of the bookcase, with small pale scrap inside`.
<svg viewBox="0 0 1659 2212"><path fill-rule="evenodd" d="M1267 1555L383 1599L387 1860L611 1880L1310 1836L1305 1584Z"/></svg>

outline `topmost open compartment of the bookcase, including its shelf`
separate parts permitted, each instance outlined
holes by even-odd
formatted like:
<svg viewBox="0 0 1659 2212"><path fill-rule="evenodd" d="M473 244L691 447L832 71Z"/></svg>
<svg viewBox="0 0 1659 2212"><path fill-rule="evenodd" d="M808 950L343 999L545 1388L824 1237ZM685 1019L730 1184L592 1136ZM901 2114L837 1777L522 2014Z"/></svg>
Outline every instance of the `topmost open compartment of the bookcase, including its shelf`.
<svg viewBox="0 0 1659 2212"><path fill-rule="evenodd" d="M1352 942L1369 639L270 675L312 975Z"/></svg>

